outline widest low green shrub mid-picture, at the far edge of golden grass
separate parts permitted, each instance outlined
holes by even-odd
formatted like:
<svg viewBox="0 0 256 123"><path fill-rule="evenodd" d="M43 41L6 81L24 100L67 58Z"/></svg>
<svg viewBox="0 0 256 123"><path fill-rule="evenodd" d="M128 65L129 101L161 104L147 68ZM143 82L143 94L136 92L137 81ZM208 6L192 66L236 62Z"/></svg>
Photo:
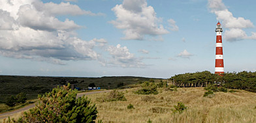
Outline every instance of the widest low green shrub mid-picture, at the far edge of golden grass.
<svg viewBox="0 0 256 123"><path fill-rule="evenodd" d="M157 85L155 83L143 83L143 89L137 90L136 94L158 94Z"/></svg>

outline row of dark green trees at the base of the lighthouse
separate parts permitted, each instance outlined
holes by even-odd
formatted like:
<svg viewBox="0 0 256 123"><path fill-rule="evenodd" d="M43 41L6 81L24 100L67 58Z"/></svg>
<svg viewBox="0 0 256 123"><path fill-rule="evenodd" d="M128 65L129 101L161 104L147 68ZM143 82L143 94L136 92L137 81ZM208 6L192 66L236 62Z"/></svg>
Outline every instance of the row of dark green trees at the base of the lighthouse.
<svg viewBox="0 0 256 123"><path fill-rule="evenodd" d="M211 72L196 72L178 74L168 80L177 87L206 87L208 84L221 83L229 89L243 89L256 92L256 72L232 72L222 75L212 74Z"/></svg>

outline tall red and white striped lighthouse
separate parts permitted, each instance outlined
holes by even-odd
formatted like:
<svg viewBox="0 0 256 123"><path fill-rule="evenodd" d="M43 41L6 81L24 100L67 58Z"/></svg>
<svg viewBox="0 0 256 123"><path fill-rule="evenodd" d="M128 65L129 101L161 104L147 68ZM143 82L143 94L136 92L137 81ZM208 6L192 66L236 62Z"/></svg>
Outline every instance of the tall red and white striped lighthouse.
<svg viewBox="0 0 256 123"><path fill-rule="evenodd" d="M223 49L222 49L222 39L221 39L221 23L217 23L216 26L216 59L215 59L215 74L223 74L224 73L224 63L223 63Z"/></svg>

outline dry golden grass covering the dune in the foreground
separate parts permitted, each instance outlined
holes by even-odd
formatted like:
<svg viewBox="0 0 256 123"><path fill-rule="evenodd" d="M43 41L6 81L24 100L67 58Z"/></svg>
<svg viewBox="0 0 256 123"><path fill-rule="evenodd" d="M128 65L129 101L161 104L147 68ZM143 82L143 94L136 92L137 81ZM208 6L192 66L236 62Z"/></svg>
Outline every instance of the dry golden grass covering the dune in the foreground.
<svg viewBox="0 0 256 123"><path fill-rule="evenodd" d="M107 92L88 95L103 122L256 122L256 93L215 92L213 98L203 97L203 88L184 88L177 92L159 89L157 95L138 95L135 89L123 91L127 101L99 102ZM181 114L172 113L173 105L183 102L188 108ZM127 109L129 103L135 109Z"/></svg>

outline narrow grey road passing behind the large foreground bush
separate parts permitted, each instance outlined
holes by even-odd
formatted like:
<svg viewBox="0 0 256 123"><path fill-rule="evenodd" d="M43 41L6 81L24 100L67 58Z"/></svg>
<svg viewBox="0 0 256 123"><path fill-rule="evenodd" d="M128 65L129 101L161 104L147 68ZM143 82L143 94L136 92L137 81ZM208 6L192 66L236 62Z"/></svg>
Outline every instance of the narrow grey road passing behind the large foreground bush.
<svg viewBox="0 0 256 123"><path fill-rule="evenodd" d="M89 94L97 94L97 93L100 93L100 92L109 92L110 90L99 90L99 91L91 91L91 92L80 92L76 95L76 98L79 98L83 95L89 95ZM29 104L25 107L22 107L20 109L16 109L14 111L10 111L10 112L7 112L7 113L1 113L0 114L0 119L3 119L3 118L8 118L8 116L12 116L16 113L20 113L22 111L26 111L27 109L31 109L32 107L35 107L35 103L32 103L32 104Z"/></svg>

